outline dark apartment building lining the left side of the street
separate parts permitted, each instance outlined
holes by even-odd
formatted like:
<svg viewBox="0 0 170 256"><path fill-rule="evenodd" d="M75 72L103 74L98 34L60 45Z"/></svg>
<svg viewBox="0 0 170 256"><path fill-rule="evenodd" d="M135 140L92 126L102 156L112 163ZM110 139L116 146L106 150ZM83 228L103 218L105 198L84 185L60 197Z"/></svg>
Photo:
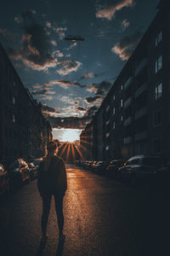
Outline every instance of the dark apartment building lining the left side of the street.
<svg viewBox="0 0 170 256"><path fill-rule="evenodd" d="M0 160L40 157L52 139L42 106L24 87L0 44Z"/></svg>

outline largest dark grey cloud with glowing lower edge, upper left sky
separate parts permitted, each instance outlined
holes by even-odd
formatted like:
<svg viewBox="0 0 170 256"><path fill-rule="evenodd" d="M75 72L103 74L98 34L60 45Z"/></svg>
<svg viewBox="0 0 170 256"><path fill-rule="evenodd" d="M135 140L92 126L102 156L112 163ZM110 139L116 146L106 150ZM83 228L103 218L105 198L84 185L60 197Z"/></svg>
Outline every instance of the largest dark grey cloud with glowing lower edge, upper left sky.
<svg viewBox="0 0 170 256"><path fill-rule="evenodd" d="M24 29L20 49L10 49L9 55L15 61L22 61L34 70L47 70L55 67L57 59L50 53L50 41L44 27L37 24L33 11L27 10L20 15Z"/></svg>

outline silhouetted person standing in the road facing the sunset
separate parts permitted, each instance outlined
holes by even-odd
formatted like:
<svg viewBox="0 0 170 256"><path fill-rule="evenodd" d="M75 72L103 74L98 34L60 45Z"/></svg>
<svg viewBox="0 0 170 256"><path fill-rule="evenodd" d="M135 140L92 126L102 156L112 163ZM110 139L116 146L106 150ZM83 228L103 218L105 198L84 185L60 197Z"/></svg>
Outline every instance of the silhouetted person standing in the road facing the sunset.
<svg viewBox="0 0 170 256"><path fill-rule="evenodd" d="M42 197L42 237L47 238L48 215L51 199L54 195L55 211L59 225L59 239L65 238L63 233L64 215L63 198L67 189L67 179L64 161L56 155L57 144L48 143L48 154L40 162L37 174L37 186Z"/></svg>

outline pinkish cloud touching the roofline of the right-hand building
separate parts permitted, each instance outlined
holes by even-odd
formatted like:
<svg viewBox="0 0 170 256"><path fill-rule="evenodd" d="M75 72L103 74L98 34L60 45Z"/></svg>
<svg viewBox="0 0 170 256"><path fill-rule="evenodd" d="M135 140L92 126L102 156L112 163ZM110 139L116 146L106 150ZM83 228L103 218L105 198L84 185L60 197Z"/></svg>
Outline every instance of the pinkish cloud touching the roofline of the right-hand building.
<svg viewBox="0 0 170 256"><path fill-rule="evenodd" d="M111 51L122 59L122 61L127 61L130 55L132 55L133 50L139 43L141 38L141 32L135 32L132 36L126 36L122 38Z"/></svg>

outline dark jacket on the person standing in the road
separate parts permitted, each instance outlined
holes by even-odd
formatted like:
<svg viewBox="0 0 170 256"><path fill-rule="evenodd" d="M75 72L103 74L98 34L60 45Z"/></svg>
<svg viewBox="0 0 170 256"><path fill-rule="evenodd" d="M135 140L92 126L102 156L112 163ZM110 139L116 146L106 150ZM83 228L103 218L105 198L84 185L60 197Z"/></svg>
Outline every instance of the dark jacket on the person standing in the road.
<svg viewBox="0 0 170 256"><path fill-rule="evenodd" d="M37 187L41 196L64 196L67 189L65 163L57 155L53 155L48 166L44 170L45 159L40 162L37 172Z"/></svg>

